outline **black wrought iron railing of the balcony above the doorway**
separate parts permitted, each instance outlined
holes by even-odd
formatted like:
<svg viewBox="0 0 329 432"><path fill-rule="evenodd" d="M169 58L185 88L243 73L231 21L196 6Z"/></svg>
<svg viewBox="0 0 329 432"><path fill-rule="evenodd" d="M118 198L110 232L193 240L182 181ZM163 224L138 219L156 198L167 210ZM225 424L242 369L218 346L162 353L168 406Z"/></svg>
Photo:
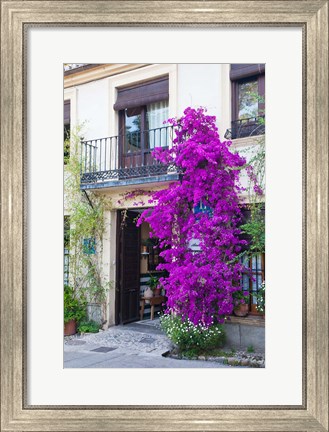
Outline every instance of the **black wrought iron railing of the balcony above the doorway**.
<svg viewBox="0 0 329 432"><path fill-rule="evenodd" d="M172 126L81 142L81 183L149 177L174 172L152 156L172 142Z"/></svg>

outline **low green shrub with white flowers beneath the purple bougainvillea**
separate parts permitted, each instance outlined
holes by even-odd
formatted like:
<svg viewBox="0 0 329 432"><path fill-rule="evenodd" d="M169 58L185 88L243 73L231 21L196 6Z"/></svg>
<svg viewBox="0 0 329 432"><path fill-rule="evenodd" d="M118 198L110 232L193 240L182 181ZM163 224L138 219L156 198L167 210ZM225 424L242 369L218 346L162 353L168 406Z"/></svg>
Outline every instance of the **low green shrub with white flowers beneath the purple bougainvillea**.
<svg viewBox="0 0 329 432"><path fill-rule="evenodd" d="M160 323L168 338L182 353L200 354L222 347L225 342L224 328L221 324L213 324L208 328L201 324L196 326L177 315L163 315Z"/></svg>

